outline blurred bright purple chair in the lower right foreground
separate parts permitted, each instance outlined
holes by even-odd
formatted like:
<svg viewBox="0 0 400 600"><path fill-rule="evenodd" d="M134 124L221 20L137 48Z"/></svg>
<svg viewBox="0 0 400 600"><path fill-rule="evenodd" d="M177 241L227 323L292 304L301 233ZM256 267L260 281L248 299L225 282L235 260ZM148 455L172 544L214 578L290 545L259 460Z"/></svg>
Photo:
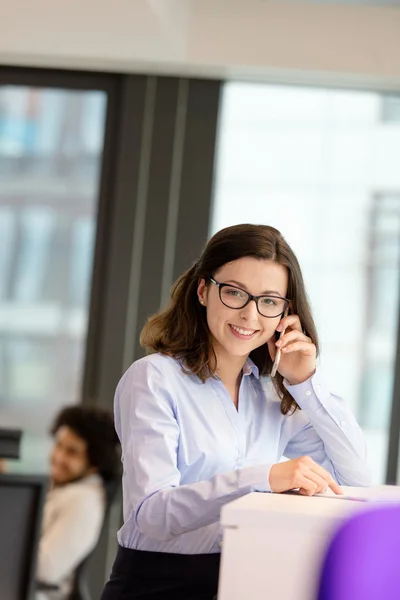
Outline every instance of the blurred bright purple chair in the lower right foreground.
<svg viewBox="0 0 400 600"><path fill-rule="evenodd" d="M344 523L322 567L318 600L400 598L400 504L373 507Z"/></svg>

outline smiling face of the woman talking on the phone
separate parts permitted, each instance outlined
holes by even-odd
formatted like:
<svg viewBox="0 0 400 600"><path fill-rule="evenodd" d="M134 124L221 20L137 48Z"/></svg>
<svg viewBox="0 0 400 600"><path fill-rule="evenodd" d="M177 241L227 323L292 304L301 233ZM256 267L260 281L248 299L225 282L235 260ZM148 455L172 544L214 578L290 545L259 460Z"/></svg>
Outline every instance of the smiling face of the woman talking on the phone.
<svg viewBox="0 0 400 600"><path fill-rule="evenodd" d="M286 298L288 272L285 267L270 260L244 257L225 264L215 274L219 283L230 283L253 296L265 294ZM260 315L255 302L235 310L222 304L218 287L199 281L199 300L206 306L207 322L218 356L224 354L246 358L252 350L265 344L275 332L281 316L268 318ZM240 331L238 331L238 329Z"/></svg>

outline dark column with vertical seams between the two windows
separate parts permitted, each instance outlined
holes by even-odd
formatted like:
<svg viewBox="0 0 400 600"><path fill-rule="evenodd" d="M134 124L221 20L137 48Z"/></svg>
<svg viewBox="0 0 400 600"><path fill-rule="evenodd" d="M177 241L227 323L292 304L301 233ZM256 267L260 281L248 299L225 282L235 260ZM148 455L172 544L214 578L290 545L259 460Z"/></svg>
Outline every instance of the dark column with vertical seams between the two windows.
<svg viewBox="0 0 400 600"><path fill-rule="evenodd" d="M220 83L167 77L121 79L104 183L84 397L112 407L123 371L144 351L146 319L207 239ZM110 134L111 135L111 134ZM114 173L114 176L112 175ZM120 507L92 568L100 594L116 549Z"/></svg>

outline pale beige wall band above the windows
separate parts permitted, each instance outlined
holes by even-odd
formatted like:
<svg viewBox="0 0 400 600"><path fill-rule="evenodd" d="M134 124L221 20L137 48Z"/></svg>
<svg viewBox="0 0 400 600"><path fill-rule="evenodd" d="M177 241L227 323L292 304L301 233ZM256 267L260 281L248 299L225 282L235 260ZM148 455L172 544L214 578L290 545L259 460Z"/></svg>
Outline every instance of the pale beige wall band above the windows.
<svg viewBox="0 0 400 600"><path fill-rule="evenodd" d="M267 0L16 1L0 63L400 89L400 9Z"/></svg>

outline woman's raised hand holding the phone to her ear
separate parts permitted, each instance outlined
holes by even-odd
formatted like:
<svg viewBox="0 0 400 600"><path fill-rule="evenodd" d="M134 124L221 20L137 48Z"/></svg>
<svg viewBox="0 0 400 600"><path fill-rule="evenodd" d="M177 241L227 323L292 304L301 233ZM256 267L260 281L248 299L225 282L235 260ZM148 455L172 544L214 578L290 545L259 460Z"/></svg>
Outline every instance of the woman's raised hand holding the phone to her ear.
<svg viewBox="0 0 400 600"><path fill-rule="evenodd" d="M297 315L284 317L277 331L285 329L285 334L275 341L273 336L268 342L268 350L272 361L275 360L277 349L281 350L278 372L290 385L303 383L315 373L317 349L312 340L303 333L300 319Z"/></svg>

